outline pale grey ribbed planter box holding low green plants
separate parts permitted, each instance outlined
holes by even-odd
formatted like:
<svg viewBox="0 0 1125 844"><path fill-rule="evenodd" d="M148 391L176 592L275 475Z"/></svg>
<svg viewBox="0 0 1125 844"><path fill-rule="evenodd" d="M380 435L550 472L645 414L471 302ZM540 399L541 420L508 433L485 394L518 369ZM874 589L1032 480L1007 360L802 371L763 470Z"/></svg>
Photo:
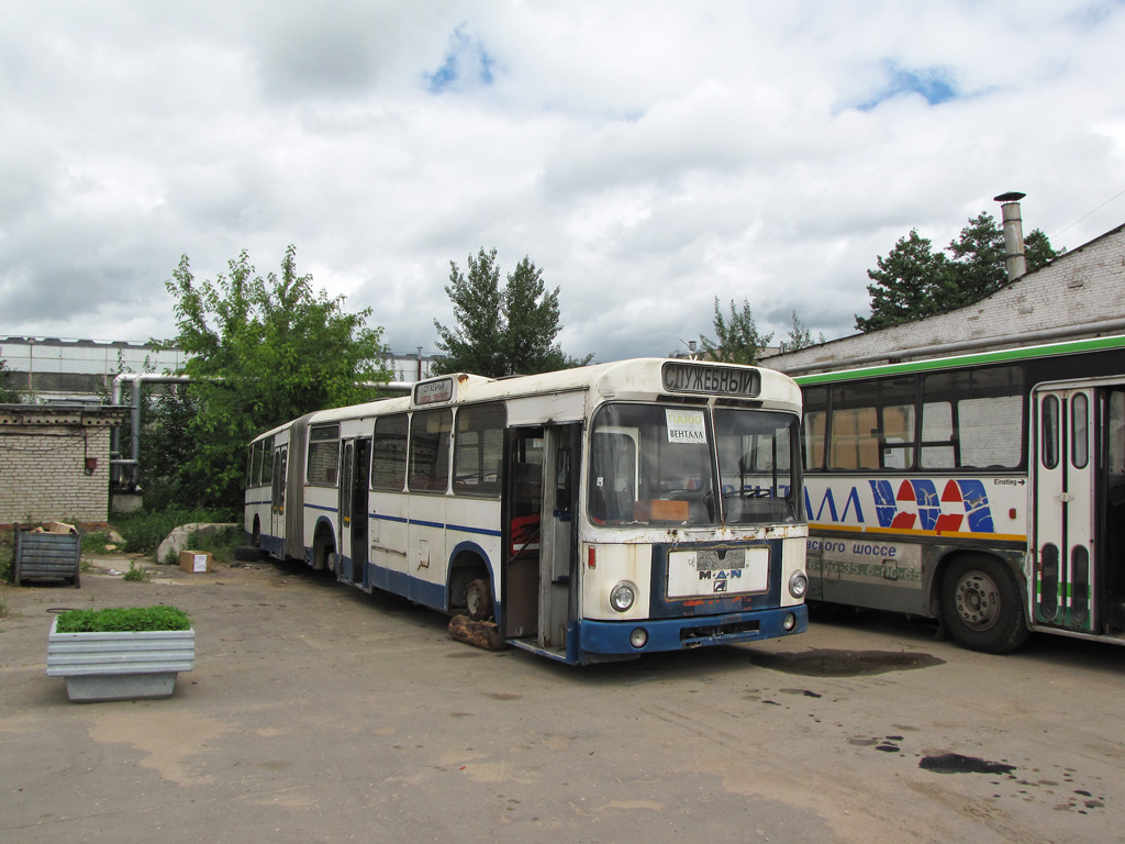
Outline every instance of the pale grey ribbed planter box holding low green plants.
<svg viewBox="0 0 1125 844"><path fill-rule="evenodd" d="M166 698L196 665L196 630L61 634L51 622L47 676L65 677L73 701Z"/></svg>

